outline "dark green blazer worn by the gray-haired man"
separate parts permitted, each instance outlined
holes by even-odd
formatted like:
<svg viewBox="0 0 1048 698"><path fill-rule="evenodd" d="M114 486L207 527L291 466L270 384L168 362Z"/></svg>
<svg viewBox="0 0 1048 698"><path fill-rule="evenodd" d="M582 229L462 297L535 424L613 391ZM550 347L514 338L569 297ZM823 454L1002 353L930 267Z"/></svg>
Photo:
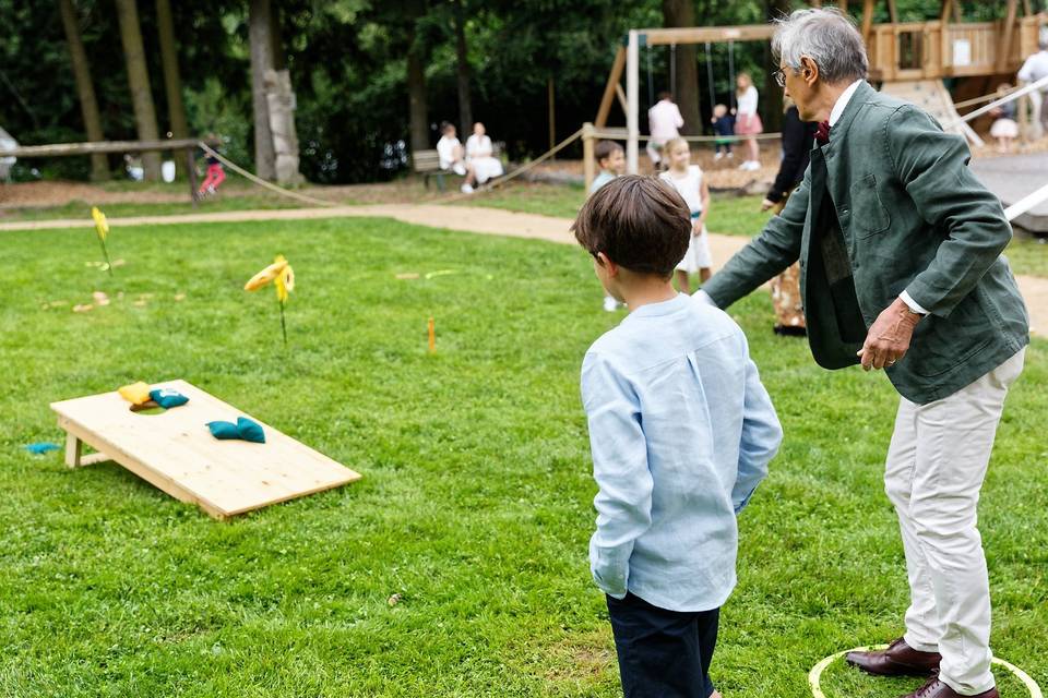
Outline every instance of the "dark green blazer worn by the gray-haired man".
<svg viewBox="0 0 1048 698"><path fill-rule="evenodd" d="M822 268L819 212L836 210L866 327L903 290L930 313L889 377L913 402L944 398L1029 341L1026 306L1001 256L1012 229L968 158L964 139L864 82L830 142L812 149L783 213L703 290L726 308L799 258L815 361L826 369L858 363L861 342L844 341L832 306L824 311L825 275L808 274L812 262ZM823 208L826 195L833 206Z"/></svg>

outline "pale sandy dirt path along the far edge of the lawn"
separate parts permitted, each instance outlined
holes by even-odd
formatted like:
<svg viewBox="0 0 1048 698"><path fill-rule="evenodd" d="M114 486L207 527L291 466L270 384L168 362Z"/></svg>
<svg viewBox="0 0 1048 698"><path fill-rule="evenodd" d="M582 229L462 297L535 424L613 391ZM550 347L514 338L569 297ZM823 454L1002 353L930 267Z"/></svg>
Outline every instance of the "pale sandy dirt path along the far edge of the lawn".
<svg viewBox="0 0 1048 698"><path fill-rule="evenodd" d="M158 226L192 222L246 222L252 220L298 220L303 218L394 218L418 226L465 230L485 234L512 238L534 238L574 244L569 232L571 220L537 214L521 214L501 208L479 206L440 206L436 204L368 206L333 206L330 208L283 208L275 210L230 210L211 214L184 214L176 216L132 216L110 218L117 226ZM59 228L91 228L90 220L26 220L0 224L0 232L14 230L51 230ZM711 233L710 249L714 267L727 261L747 243L746 238ZM1020 276L1019 287L1026 299L1031 313L1031 329L1048 335L1048 279L1036 276Z"/></svg>

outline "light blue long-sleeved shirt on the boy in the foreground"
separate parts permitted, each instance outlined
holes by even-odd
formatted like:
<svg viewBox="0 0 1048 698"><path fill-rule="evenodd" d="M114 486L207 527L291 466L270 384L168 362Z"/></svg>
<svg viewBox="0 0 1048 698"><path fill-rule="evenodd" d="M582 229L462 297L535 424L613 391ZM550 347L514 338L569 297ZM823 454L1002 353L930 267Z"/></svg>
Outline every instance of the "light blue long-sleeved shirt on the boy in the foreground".
<svg viewBox="0 0 1048 698"><path fill-rule="evenodd" d="M719 607L736 583L736 515L783 431L746 336L684 294L642 305L582 364L597 530L593 578L670 611Z"/></svg>

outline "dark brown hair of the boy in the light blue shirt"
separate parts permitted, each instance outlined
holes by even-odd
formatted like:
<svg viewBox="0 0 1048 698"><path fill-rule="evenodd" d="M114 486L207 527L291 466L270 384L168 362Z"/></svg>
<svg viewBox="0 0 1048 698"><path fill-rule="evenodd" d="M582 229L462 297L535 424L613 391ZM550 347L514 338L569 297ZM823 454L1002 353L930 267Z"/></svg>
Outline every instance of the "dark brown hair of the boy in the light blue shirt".
<svg viewBox="0 0 1048 698"><path fill-rule="evenodd" d="M631 272L668 279L688 251L691 210L668 183L627 174L590 197L571 231L593 256L604 252Z"/></svg>

